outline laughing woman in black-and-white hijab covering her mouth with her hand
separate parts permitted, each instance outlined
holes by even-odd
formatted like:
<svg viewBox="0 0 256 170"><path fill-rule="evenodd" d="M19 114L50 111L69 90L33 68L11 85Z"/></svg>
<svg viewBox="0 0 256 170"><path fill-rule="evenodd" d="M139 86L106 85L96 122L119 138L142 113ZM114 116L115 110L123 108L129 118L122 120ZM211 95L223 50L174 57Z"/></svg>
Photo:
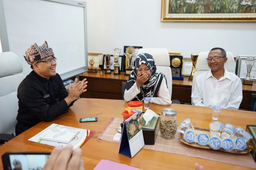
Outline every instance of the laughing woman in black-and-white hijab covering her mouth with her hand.
<svg viewBox="0 0 256 170"><path fill-rule="evenodd" d="M162 72L156 71L152 55L139 54L133 62L133 69L125 85L125 101L142 101L144 97L151 97L151 102L170 105L171 97L167 88L167 80Z"/></svg>

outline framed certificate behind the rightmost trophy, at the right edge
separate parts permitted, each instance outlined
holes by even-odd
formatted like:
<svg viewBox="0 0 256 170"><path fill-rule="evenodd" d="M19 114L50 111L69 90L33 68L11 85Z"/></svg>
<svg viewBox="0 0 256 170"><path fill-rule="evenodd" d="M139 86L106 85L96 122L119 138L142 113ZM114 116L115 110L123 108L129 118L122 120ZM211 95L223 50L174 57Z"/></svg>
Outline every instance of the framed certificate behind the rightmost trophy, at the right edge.
<svg viewBox="0 0 256 170"><path fill-rule="evenodd" d="M247 65L246 65L246 58L249 56L239 56L238 58L238 67L237 67L237 76L240 79L244 79L247 74ZM253 56L254 59L256 60L256 56ZM252 80L256 80L256 64L254 63L252 70L250 72L250 77Z"/></svg>

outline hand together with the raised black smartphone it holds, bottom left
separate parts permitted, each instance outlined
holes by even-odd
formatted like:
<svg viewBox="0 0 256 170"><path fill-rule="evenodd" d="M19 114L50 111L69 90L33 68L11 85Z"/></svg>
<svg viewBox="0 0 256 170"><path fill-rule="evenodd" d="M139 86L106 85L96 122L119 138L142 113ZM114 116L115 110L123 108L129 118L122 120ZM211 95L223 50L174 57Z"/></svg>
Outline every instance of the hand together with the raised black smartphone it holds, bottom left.
<svg viewBox="0 0 256 170"><path fill-rule="evenodd" d="M50 155L51 154L51 155ZM4 170L10 169L72 169L84 170L82 150L68 144L57 146L49 152L6 152L2 155Z"/></svg>

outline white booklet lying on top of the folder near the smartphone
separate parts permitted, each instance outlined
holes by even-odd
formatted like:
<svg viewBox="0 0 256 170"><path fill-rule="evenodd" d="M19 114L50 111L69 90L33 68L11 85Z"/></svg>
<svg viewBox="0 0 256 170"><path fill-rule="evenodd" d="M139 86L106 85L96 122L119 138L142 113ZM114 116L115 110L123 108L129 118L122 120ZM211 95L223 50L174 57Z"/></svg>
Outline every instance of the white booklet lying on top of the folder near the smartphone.
<svg viewBox="0 0 256 170"><path fill-rule="evenodd" d="M78 128L53 123L42 131L39 138L55 142L69 143L78 133Z"/></svg>

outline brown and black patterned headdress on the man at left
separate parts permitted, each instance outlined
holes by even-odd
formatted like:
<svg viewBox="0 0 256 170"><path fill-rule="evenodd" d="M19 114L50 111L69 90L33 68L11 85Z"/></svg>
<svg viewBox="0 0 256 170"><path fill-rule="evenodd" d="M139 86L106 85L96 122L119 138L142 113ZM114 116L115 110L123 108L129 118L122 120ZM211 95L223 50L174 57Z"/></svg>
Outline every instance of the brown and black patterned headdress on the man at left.
<svg viewBox="0 0 256 170"><path fill-rule="evenodd" d="M24 56L24 58L29 65L32 65L33 63L39 62L48 56L54 56L54 53L53 50L48 47L47 42L44 41L44 44L40 47L35 43L31 45L27 49L26 56Z"/></svg>

